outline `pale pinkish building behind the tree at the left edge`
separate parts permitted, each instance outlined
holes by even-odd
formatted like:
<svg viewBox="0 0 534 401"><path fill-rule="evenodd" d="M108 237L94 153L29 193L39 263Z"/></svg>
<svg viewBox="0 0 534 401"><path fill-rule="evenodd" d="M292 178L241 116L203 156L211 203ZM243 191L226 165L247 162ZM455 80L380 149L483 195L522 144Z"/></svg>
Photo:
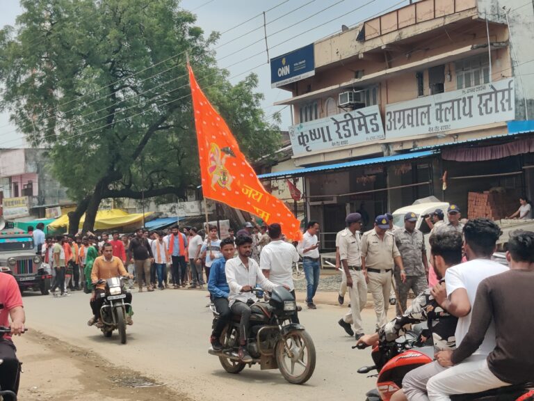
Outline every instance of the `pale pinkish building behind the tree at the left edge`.
<svg viewBox="0 0 534 401"><path fill-rule="evenodd" d="M0 204L6 219L45 217L47 208L72 205L47 166L46 149L0 149Z"/></svg>

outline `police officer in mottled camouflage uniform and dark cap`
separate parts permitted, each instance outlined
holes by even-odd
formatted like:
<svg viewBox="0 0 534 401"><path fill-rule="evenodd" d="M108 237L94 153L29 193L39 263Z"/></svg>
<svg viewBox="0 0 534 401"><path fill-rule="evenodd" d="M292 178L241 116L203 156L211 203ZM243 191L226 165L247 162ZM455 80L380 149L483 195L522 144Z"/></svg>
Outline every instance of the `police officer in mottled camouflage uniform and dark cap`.
<svg viewBox="0 0 534 401"><path fill-rule="evenodd" d="M404 228L395 230L395 244L403 258L405 280L401 279L400 272L395 272L395 282L398 290L398 302L401 309L406 310L408 292L412 290L415 295L421 294L428 288L426 274L428 272L428 260L423 233L415 228L417 215L408 212L404 216Z"/></svg>

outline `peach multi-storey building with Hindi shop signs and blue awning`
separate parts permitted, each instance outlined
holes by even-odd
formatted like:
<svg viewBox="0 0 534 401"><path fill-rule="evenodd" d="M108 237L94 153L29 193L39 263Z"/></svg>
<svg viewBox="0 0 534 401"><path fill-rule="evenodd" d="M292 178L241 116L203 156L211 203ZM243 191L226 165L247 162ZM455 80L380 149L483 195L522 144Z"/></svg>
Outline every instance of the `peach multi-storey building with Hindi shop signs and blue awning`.
<svg viewBox="0 0 534 401"><path fill-rule="evenodd" d="M469 191L532 197L533 23L524 0L422 0L273 58L293 166L261 179L302 178L325 233L431 195L466 216Z"/></svg>

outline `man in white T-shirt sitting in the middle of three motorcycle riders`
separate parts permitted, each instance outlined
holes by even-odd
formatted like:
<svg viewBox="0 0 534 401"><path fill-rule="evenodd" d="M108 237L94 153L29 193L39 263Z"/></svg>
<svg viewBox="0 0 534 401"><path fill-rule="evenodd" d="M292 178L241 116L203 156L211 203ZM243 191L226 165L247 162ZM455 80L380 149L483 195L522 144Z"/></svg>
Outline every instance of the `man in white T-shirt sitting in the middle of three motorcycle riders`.
<svg viewBox="0 0 534 401"><path fill-rule="evenodd" d="M458 317L456 344L462 343L471 324L471 308L480 281L508 270L508 267L489 260L501 235L501 229L496 223L489 219L474 219L465 224L463 233L464 251L469 261L449 267L445 274L445 283L438 283L430 292L442 308ZM477 363L484 360L494 347L495 327L492 323L482 345L466 362ZM450 355L451 352L438 352L436 361L418 368L418 372L421 372L417 375L419 382L411 382L410 386L413 388L405 391L410 394L409 401L447 399L443 398L444 383L450 377L461 374L461 368L458 371L460 365L444 368L439 364L446 361L447 357L450 358Z"/></svg>

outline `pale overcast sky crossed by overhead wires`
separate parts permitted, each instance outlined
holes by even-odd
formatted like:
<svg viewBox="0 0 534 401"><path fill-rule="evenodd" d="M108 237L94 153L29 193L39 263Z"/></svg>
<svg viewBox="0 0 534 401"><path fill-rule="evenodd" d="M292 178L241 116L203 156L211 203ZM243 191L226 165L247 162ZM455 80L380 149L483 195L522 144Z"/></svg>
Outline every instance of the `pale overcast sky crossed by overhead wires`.
<svg viewBox="0 0 534 401"><path fill-rule="evenodd" d="M229 70L230 81L233 84L250 72L256 73L259 77L257 91L265 95L262 107L266 116L270 118L273 113L281 111L280 129L285 130L291 125L290 108L275 107L273 103L291 97L291 93L270 87L268 56L274 58L291 52L321 38L339 33L342 24L353 26L405 3L409 1L182 0L181 6L197 15L197 25L204 30L206 36L211 31L225 32L250 19L220 37L215 45L220 47L216 50L218 65ZM17 15L22 13L19 1L0 0L0 4L0 26L14 25ZM264 12L268 56L264 39ZM253 56L255 54L257 55ZM8 114L0 113L0 148L22 146L24 139L16 127L10 124Z"/></svg>

